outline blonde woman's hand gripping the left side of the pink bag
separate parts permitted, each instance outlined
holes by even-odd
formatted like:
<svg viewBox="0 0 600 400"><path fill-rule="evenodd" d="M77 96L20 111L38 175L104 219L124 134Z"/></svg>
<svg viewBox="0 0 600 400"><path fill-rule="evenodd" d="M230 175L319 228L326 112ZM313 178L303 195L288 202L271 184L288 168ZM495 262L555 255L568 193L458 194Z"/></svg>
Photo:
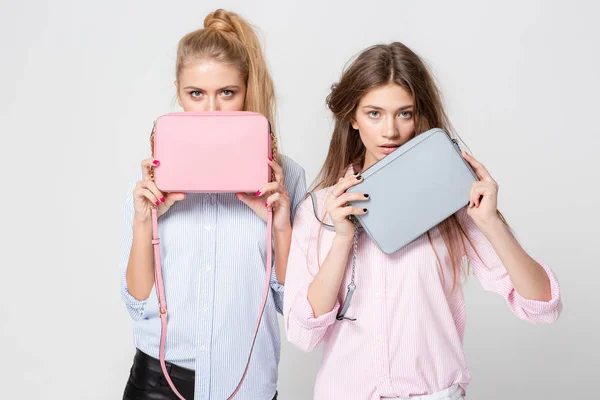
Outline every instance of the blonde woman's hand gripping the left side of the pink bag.
<svg viewBox="0 0 600 400"><path fill-rule="evenodd" d="M142 180L137 182L133 190L134 219L140 222L149 221L152 208L158 209L158 216L166 213L176 201L184 200L185 193L168 193L164 195L150 178L151 167L158 167L160 162L154 158L142 161Z"/></svg>

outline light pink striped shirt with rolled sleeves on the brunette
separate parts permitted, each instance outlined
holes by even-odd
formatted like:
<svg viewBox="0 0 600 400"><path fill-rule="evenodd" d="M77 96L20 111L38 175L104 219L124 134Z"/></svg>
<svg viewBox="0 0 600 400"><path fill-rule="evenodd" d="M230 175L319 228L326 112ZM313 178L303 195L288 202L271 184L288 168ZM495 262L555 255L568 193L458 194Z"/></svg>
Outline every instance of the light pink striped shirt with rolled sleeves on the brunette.
<svg viewBox="0 0 600 400"><path fill-rule="evenodd" d="M320 216L329 190L317 192ZM466 208L457 216L480 256L466 242L464 256L484 289L503 296L511 311L523 320L554 322L562 309L554 273L541 264L550 279L550 301L521 297ZM308 302L308 287L327 256L334 235L320 228L310 199L305 200L294 219L284 320L288 339L300 349L311 351L323 342L314 398L411 397L439 392L453 384L464 391L470 382L463 352L464 298L460 277L452 291L452 265L439 230L433 229L431 236L441 269L427 235L386 255L366 233L360 234L356 291L346 313L356 321L335 318L350 281L351 257L334 309L315 318Z"/></svg>

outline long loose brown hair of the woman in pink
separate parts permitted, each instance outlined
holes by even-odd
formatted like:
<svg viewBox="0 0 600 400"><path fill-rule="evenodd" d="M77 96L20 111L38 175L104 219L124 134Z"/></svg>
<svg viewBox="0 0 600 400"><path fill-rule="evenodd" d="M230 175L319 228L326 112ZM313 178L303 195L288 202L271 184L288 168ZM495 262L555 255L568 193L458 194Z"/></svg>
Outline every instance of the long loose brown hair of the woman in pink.
<svg viewBox="0 0 600 400"><path fill-rule="evenodd" d="M375 45L365 49L356 57L344 70L340 81L332 86L331 93L327 96L327 106L333 113L335 126L329 152L313 185L313 190L335 185L349 166L353 166L355 171L360 171L365 160L366 148L360 135L352 128L356 108L368 91L390 83L399 85L413 98L415 135L431 128L441 128L462 143L450 124L442 105L440 91L423 60L399 42ZM499 212L498 214L504 221L502 214ZM464 240L469 242L470 240L456 214L442 221L437 227L452 262L452 288L454 289L457 276L462 269L462 255L465 254ZM433 246L431 231L427 232L427 236L441 267L439 256ZM468 267L464 272L468 273Z"/></svg>

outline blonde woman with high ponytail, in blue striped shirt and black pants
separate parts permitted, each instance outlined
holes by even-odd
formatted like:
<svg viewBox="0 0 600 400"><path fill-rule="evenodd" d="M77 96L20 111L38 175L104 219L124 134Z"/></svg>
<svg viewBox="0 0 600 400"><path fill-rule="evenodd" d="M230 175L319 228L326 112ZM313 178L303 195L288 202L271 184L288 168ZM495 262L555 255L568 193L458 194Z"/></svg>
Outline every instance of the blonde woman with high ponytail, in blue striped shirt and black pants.
<svg viewBox="0 0 600 400"><path fill-rule="evenodd" d="M260 43L238 15L217 10L179 42L177 98L184 111L255 111L275 125L273 82ZM276 138L273 137L276 144ZM275 181L255 195L163 195L142 162L127 195L121 293L137 352L124 399L226 399L244 373L265 277L267 207L273 207L274 273L249 373L236 399L276 397L283 282L291 218L306 193L304 170L273 146ZM219 168L218 165L215 166ZM285 178L285 179L284 179ZM132 185L133 186L133 185ZM151 208L160 215L161 263L169 303L167 370L159 365L161 323L154 285Z"/></svg>

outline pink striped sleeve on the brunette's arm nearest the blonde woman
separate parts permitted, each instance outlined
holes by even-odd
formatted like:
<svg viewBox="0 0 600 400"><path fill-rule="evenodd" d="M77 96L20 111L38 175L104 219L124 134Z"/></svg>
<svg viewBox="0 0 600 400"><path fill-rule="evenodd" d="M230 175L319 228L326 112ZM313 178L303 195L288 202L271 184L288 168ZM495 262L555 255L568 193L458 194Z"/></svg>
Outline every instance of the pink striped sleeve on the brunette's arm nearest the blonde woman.
<svg viewBox="0 0 600 400"><path fill-rule="evenodd" d="M330 312L315 318L308 301L308 287L319 271L318 231L319 224L313 215L312 204L310 199L306 199L294 218L283 308L287 338L304 351L312 351L327 336L340 307L336 301Z"/></svg>

